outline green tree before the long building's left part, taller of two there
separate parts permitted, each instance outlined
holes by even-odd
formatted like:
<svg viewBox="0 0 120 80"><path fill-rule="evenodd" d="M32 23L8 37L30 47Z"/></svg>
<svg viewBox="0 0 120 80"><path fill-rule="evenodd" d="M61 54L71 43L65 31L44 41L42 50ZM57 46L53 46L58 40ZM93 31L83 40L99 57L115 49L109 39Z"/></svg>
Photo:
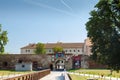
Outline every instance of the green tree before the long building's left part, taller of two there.
<svg viewBox="0 0 120 80"><path fill-rule="evenodd" d="M43 43L37 43L36 44L36 49L35 49L36 54L45 54L45 45Z"/></svg>

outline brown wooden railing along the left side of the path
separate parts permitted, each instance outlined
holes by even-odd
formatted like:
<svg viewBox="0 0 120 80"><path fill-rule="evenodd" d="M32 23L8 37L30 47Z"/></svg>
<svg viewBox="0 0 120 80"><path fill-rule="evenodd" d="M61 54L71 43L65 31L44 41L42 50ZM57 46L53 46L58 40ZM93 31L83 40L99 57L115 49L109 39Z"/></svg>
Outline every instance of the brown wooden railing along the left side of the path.
<svg viewBox="0 0 120 80"><path fill-rule="evenodd" d="M25 75L19 75L16 77L11 77L11 78L2 79L2 80L39 80L40 78L48 74L50 74L50 69L42 70L42 71L34 72L34 73L29 73Z"/></svg>

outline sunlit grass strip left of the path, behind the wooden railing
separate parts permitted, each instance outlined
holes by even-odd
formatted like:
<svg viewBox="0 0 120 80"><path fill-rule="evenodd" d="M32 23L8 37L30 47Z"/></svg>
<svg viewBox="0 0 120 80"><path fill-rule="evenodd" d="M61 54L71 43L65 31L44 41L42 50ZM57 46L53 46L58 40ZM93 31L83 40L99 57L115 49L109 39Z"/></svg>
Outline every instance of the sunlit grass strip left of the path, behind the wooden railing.
<svg viewBox="0 0 120 80"><path fill-rule="evenodd" d="M16 74L27 74L33 71L14 71L14 70L0 70L0 76L5 75L16 75Z"/></svg>

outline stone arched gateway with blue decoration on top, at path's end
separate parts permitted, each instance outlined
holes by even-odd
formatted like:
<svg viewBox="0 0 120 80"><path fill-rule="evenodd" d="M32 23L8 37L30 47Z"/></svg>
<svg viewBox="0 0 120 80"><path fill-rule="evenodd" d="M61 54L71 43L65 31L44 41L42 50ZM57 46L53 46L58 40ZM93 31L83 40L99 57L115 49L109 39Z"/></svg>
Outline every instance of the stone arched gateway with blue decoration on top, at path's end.
<svg viewBox="0 0 120 80"><path fill-rule="evenodd" d="M51 54L52 63L50 68L53 70L62 71L64 69L72 68L72 60L70 60L71 54L65 54L65 52L55 52ZM69 65L68 65L69 64Z"/></svg>

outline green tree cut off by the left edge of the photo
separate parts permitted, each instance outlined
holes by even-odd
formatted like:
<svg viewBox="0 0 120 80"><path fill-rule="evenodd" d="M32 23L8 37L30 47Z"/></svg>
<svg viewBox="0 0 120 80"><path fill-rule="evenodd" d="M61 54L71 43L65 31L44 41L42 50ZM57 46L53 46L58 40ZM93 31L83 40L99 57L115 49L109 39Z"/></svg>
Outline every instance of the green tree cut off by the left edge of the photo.
<svg viewBox="0 0 120 80"><path fill-rule="evenodd" d="M2 31L2 26L0 24L0 54L3 54L5 49L4 46L8 42L7 31Z"/></svg>

